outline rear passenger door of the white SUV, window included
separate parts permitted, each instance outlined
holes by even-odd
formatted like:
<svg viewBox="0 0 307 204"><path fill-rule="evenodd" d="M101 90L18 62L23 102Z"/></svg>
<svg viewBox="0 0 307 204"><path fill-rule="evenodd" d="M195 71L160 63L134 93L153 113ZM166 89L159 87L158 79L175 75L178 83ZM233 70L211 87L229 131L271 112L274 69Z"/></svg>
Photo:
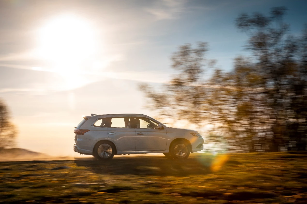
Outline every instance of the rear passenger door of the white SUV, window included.
<svg viewBox="0 0 307 204"><path fill-rule="evenodd" d="M107 128L107 134L111 141L117 146L117 151L135 151L135 129L126 128L124 117L111 119L111 127Z"/></svg>

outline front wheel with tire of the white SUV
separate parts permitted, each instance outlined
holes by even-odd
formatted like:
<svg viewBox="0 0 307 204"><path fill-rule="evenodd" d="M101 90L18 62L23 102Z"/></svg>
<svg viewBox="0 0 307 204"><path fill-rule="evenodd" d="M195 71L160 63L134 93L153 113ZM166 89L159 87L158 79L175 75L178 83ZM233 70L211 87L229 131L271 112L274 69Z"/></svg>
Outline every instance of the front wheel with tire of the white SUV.
<svg viewBox="0 0 307 204"><path fill-rule="evenodd" d="M171 144L169 153L174 159L186 159L190 155L189 144L184 140L177 140Z"/></svg>

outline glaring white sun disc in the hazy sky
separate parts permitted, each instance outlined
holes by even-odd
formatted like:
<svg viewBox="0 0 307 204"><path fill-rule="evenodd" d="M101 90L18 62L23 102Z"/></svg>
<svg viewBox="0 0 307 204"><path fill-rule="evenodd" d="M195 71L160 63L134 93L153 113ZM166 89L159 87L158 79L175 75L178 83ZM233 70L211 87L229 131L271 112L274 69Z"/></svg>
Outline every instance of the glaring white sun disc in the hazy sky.
<svg viewBox="0 0 307 204"><path fill-rule="evenodd" d="M38 30L37 53L60 71L76 69L96 51L97 40L91 23L74 15L61 15L47 21Z"/></svg>

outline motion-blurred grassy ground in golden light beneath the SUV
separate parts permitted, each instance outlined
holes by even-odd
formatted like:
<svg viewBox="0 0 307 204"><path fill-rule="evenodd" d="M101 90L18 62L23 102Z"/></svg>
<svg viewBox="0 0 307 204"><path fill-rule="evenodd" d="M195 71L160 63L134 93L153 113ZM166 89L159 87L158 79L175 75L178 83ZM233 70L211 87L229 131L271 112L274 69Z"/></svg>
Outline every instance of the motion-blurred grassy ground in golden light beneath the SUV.
<svg viewBox="0 0 307 204"><path fill-rule="evenodd" d="M307 203L307 154L0 162L0 203L234 202Z"/></svg>

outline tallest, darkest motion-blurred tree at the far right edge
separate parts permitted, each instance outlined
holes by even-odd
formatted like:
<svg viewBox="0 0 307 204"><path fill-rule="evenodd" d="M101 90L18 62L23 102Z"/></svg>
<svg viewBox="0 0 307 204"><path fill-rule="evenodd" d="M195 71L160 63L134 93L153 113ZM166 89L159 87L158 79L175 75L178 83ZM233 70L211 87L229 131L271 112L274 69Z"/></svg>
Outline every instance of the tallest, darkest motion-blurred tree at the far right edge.
<svg viewBox="0 0 307 204"><path fill-rule="evenodd" d="M285 7L271 9L270 16L241 14L236 26L249 35L254 66L264 79L263 99L270 109L271 151L287 147L306 150L307 134L307 32L288 35L283 22Z"/></svg>

